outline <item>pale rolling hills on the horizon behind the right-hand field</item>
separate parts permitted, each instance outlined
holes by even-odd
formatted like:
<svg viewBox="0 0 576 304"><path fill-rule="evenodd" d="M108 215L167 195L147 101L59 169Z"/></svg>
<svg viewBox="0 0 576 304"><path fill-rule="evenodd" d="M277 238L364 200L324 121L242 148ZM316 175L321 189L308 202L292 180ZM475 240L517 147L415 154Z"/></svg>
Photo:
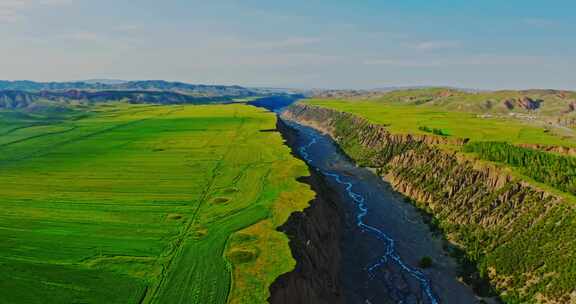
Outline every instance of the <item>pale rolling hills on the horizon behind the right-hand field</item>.
<svg viewBox="0 0 576 304"><path fill-rule="evenodd" d="M439 109L541 121L563 127L576 126L576 92L559 90L472 91L454 88L415 88L375 91L342 91L316 94L318 99L373 101L390 105Z"/></svg>

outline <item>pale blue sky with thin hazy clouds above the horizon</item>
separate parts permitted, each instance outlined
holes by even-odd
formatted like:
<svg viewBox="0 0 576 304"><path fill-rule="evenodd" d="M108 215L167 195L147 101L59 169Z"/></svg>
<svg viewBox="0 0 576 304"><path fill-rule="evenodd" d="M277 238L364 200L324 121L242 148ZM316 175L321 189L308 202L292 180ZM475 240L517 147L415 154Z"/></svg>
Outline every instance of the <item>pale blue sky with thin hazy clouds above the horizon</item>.
<svg viewBox="0 0 576 304"><path fill-rule="evenodd" d="M575 72L576 1L0 0L0 79L576 89Z"/></svg>

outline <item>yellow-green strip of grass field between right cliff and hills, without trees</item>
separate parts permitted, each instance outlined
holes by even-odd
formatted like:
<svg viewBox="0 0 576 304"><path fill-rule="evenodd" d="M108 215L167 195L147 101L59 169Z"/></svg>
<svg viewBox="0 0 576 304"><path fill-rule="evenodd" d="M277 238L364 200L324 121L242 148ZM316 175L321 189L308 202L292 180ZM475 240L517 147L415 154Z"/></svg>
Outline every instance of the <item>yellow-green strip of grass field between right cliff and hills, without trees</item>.
<svg viewBox="0 0 576 304"><path fill-rule="evenodd" d="M450 136L473 141L505 141L513 144L543 144L575 147L576 142L546 131L544 127L504 118L480 118L475 113L449 111L442 107L404 105L377 100L321 100L309 104L350 112L392 133L426 134L421 127L441 129Z"/></svg>

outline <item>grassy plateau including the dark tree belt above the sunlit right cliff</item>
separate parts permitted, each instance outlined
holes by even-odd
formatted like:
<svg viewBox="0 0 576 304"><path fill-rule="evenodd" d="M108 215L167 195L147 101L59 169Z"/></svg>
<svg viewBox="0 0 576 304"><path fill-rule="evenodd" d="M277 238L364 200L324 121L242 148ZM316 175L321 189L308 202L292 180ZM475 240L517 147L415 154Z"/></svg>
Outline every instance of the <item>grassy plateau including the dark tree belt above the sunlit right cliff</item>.
<svg viewBox="0 0 576 304"><path fill-rule="evenodd" d="M519 120L510 115L486 116L481 114L490 111L464 110L482 103L481 100L494 98L494 94L499 96L497 93L464 94L455 91L456 96L446 97L442 102L430 101L434 100L430 94L442 92L444 91L440 89L407 90L391 92L379 99L310 99L306 102L361 116L373 123L384 125L393 134L466 138L469 144L464 147L442 148L500 163L529 181L542 183L541 186L550 188L551 191L560 190L575 194L574 157L516 146L574 148L576 139L565 135L576 134L576 129L563 127L564 132L559 134L548 125ZM498 94L504 94L506 97L513 95L507 92ZM459 100L458 97L462 99ZM417 102L420 99L426 102ZM549 107L553 106L554 104ZM564 165L558 165L560 163ZM572 197L570 199L572 200Z"/></svg>

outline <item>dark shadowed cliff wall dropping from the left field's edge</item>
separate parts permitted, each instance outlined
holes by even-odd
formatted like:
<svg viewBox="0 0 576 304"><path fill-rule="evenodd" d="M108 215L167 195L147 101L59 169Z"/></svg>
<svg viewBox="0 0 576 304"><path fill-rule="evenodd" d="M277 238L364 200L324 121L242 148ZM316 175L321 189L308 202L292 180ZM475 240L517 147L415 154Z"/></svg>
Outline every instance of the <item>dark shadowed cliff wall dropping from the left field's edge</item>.
<svg viewBox="0 0 576 304"><path fill-rule="evenodd" d="M294 130L278 122L278 129L290 142ZM294 146L290 144L289 146ZM280 276L270 287L272 304L344 303L340 267L342 212L321 176L311 172L303 182L318 194L310 207L290 216L280 230L290 238L296 269Z"/></svg>

